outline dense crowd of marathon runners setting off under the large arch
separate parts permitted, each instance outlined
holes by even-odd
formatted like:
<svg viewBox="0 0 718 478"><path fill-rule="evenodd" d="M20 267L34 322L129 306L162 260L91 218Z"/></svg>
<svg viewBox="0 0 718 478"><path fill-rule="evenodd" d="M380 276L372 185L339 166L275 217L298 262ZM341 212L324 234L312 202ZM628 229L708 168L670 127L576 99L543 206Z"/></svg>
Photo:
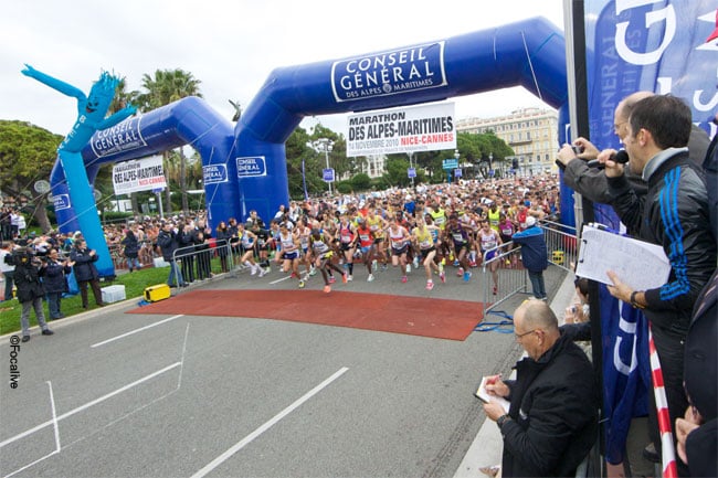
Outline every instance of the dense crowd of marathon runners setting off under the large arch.
<svg viewBox="0 0 718 478"><path fill-rule="evenodd" d="M527 227L527 217L558 219L556 176L462 181L369 194L293 201L265 221L253 211L217 231L251 275L278 267L297 286L321 275L324 291L361 275L373 282L390 267L406 283L423 269L426 289L452 273L464 282L484 258ZM363 274L361 270L366 270ZM494 294L497 293L497 283Z"/></svg>

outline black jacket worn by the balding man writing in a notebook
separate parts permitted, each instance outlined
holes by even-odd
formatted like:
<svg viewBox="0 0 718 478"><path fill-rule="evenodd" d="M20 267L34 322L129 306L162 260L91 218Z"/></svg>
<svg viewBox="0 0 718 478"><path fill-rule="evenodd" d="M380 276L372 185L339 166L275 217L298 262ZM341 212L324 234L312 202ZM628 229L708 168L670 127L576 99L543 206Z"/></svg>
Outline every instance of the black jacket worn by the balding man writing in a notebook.
<svg viewBox="0 0 718 478"><path fill-rule="evenodd" d="M538 361L516 364L511 419L501 426L505 477L573 477L598 437L599 397L585 353L561 336Z"/></svg>

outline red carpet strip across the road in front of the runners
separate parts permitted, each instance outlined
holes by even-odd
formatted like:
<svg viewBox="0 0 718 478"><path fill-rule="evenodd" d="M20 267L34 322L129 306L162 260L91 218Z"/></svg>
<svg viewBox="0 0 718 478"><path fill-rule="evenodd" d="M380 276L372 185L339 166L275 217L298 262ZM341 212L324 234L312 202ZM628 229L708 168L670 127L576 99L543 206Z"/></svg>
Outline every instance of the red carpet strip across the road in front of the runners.
<svg viewBox="0 0 718 478"><path fill-rule="evenodd" d="M465 340L479 322L482 304L319 290L193 290L129 311L250 317Z"/></svg>

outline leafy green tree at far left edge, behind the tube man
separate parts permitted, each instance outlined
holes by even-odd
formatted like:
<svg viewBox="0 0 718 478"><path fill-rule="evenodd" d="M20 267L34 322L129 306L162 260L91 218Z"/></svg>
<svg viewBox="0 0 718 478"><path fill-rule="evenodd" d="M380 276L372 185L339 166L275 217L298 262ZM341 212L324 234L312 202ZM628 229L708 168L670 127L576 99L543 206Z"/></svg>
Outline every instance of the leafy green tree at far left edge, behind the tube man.
<svg viewBox="0 0 718 478"><path fill-rule="evenodd" d="M0 191L3 196L29 199L43 232L52 229L47 194L35 191L34 183L50 177L62 138L27 121L0 119Z"/></svg>

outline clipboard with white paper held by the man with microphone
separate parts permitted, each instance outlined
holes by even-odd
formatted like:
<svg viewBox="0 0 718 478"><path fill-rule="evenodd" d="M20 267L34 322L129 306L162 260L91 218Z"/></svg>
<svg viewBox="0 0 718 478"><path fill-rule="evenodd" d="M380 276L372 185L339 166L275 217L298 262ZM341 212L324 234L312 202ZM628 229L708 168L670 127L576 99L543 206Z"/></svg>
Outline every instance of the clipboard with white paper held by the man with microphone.
<svg viewBox="0 0 718 478"><path fill-rule="evenodd" d="M646 290L668 282L671 262L656 244L587 224L581 232L576 275L613 285L608 270L633 289Z"/></svg>

